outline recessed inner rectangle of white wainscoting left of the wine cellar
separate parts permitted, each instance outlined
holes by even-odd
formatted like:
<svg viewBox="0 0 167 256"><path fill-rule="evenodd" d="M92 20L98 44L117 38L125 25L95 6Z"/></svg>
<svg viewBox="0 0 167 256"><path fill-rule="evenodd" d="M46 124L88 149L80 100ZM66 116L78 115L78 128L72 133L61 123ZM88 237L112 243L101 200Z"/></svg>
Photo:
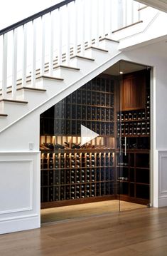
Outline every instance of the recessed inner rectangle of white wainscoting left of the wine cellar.
<svg viewBox="0 0 167 256"><path fill-rule="evenodd" d="M33 160L0 160L0 215L32 210L32 196Z"/></svg>

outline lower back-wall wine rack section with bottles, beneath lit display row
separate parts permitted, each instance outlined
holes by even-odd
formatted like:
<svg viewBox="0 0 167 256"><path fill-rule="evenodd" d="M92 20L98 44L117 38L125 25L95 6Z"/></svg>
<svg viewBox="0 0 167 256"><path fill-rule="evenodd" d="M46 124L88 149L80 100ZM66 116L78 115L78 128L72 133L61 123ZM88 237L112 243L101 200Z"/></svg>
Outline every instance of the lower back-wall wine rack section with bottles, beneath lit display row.
<svg viewBox="0 0 167 256"><path fill-rule="evenodd" d="M41 202L112 195L113 153L43 153Z"/></svg>

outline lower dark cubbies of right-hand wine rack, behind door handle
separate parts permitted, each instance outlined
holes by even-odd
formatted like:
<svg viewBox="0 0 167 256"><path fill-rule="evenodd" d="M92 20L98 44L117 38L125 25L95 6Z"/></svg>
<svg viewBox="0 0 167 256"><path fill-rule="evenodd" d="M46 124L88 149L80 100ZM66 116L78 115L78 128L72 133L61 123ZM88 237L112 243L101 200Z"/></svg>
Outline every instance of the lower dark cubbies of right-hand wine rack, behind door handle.
<svg viewBox="0 0 167 256"><path fill-rule="evenodd" d="M130 151L120 158L117 153L117 193L121 199L136 203L148 203L149 180L149 151Z"/></svg>

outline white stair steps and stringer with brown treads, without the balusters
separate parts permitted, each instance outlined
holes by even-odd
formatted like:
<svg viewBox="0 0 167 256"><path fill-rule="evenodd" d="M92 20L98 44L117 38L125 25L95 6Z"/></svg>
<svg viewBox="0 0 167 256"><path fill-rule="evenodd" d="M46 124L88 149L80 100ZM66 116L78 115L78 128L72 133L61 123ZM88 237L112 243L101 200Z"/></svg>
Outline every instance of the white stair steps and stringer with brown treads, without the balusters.
<svg viewBox="0 0 167 256"><path fill-rule="evenodd" d="M53 67L52 75L46 70L42 75L41 70L36 71L36 85L32 86L32 78L26 77L26 85L21 80L17 81L16 97L12 97L12 88L6 90L6 98L1 98L1 131L16 123L20 118L30 114L36 108L44 105L58 95L64 98L93 77L102 73L118 61L116 56L118 42L103 39L100 43L108 44L106 48L90 47L85 49L85 56L77 55L70 58L70 65ZM114 60L115 58L115 60ZM56 103L56 101L55 101ZM47 104L46 109L50 106Z"/></svg>

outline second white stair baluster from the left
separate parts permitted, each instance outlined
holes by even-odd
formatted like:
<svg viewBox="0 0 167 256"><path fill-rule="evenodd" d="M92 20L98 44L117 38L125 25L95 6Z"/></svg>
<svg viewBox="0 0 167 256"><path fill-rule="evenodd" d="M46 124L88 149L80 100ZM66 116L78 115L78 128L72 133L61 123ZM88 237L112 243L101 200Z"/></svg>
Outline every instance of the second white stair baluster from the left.
<svg viewBox="0 0 167 256"><path fill-rule="evenodd" d="M17 83L17 29L13 30L13 60L12 60L12 89L11 96L16 99Z"/></svg>

